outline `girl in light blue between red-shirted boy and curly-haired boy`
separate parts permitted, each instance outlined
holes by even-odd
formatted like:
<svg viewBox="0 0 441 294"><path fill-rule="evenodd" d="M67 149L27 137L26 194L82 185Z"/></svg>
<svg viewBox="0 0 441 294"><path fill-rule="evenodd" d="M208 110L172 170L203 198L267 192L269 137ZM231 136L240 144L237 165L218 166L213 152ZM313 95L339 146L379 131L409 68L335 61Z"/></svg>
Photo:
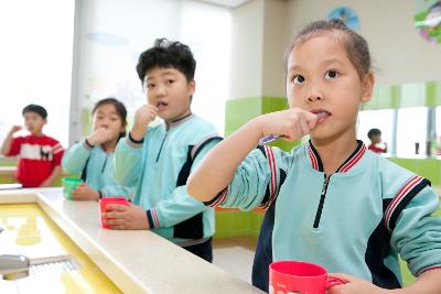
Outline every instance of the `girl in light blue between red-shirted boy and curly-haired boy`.
<svg viewBox="0 0 441 294"><path fill-rule="evenodd" d="M72 190L73 199L130 198L131 189L118 185L112 177L115 148L126 137L126 107L115 98L105 98L95 104L92 115L94 132L71 146L62 161L67 173L80 175L84 182Z"/></svg>

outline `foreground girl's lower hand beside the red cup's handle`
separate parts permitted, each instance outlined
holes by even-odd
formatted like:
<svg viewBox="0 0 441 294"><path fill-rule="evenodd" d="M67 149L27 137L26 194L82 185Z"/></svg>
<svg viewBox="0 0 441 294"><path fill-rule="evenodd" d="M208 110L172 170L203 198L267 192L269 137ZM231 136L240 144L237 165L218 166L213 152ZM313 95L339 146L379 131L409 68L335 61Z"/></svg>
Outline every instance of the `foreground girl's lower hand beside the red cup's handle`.
<svg viewBox="0 0 441 294"><path fill-rule="evenodd" d="M370 282L343 273L330 273L330 277L337 277L345 282L343 285L331 287L329 294L387 294L388 290L378 287Z"/></svg>

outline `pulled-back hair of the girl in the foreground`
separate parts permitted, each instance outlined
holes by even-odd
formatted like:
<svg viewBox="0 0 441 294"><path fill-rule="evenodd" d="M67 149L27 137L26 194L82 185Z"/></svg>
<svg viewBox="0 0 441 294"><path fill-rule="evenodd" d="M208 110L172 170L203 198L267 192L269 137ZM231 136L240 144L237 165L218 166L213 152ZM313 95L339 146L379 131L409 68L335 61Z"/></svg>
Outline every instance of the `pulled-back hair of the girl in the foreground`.
<svg viewBox="0 0 441 294"><path fill-rule="evenodd" d="M370 53L366 40L358 33L354 32L343 22L342 19L319 20L304 26L294 37L287 55L286 64L292 48L313 36L322 35L327 32L340 33L336 42L344 45L347 57L356 68L358 76L362 78L370 70Z"/></svg>

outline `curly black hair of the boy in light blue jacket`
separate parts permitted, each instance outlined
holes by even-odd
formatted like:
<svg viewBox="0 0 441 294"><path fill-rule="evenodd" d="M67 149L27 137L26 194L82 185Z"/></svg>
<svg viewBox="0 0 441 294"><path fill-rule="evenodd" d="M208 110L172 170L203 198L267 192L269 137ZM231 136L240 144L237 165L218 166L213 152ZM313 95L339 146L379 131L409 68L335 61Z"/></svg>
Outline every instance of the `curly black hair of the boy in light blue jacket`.
<svg viewBox="0 0 441 294"><path fill-rule="evenodd" d="M142 84L147 72L155 66L176 68L190 81L194 78L196 61L187 45L180 42L171 42L166 39L157 39L153 47L144 51L139 56L137 72Z"/></svg>

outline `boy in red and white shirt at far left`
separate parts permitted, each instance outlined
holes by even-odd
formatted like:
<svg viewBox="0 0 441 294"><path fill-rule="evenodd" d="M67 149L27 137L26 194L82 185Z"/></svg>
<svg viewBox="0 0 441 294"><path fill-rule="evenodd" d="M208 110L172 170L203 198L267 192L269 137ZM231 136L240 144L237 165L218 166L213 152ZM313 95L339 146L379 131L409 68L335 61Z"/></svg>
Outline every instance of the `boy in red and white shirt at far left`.
<svg viewBox="0 0 441 294"><path fill-rule="evenodd" d="M23 187L50 187L62 172L63 146L43 133L47 123L44 107L31 104L23 108L22 116L31 134L13 138L22 129L13 126L3 141L1 154L18 156L15 177Z"/></svg>

